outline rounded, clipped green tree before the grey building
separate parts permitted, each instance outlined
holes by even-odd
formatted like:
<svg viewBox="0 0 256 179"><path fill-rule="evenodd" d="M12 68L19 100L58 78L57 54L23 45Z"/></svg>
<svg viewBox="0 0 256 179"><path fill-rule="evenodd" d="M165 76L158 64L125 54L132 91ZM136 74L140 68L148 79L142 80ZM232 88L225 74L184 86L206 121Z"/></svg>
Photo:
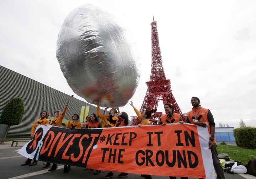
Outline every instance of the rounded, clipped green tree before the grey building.
<svg viewBox="0 0 256 179"><path fill-rule="evenodd" d="M6 124L8 127L4 131L4 136L0 144L4 144L10 126L19 125L21 123L24 110L25 106L23 100L20 97L12 99L5 105L4 110L2 110L2 114L0 116L0 124Z"/></svg>

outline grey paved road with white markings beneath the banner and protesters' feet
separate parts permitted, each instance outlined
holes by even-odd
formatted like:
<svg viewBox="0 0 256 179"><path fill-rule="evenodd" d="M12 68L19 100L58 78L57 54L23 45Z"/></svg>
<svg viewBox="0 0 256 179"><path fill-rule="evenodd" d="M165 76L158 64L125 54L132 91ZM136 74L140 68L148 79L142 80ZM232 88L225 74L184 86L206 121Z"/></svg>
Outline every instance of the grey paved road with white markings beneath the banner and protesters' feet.
<svg viewBox="0 0 256 179"><path fill-rule="evenodd" d="M102 171L98 175L94 175L94 171L87 170L84 171L84 168L71 166L71 170L69 173L63 172L63 165L58 166L57 170L52 172L48 172L48 169L43 168L43 164L45 162L38 161L36 166L21 166L21 163L26 161L26 158L17 154L17 151L24 145L24 142L19 142L18 146L11 147L11 142L5 142L4 145L0 145L0 166L1 173L0 179L22 179L22 178L30 178L30 179L103 179L105 175L108 173L106 171ZM114 177L112 179L117 178L119 173L114 173ZM153 179L169 179L169 177L164 176L152 176ZM251 177L251 178L250 178ZM129 179L144 179L140 177L138 174L129 174ZM256 179L256 177L252 175L239 175L239 174L229 174L225 173L226 179ZM177 177L177 179L180 179ZM190 178L192 179L192 178Z"/></svg>

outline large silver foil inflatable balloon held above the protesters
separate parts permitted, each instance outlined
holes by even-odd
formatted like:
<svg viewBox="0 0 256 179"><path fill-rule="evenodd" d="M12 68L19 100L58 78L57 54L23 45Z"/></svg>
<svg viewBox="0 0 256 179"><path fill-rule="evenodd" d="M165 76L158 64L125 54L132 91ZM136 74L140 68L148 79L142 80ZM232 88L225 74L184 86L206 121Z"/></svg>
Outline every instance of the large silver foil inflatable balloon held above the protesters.
<svg viewBox="0 0 256 179"><path fill-rule="evenodd" d="M116 17L99 7L86 4L69 13L56 55L69 86L89 103L124 106L138 86L135 42Z"/></svg>

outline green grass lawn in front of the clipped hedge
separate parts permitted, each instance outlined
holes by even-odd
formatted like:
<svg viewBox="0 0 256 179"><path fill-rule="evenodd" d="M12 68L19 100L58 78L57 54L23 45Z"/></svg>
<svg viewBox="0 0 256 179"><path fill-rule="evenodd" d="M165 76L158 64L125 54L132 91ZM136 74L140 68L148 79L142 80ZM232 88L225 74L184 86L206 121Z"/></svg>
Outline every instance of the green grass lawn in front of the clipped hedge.
<svg viewBox="0 0 256 179"><path fill-rule="evenodd" d="M256 150L245 149L232 145L217 145L218 153L227 153L230 159L242 163L248 163L250 159L256 158Z"/></svg>

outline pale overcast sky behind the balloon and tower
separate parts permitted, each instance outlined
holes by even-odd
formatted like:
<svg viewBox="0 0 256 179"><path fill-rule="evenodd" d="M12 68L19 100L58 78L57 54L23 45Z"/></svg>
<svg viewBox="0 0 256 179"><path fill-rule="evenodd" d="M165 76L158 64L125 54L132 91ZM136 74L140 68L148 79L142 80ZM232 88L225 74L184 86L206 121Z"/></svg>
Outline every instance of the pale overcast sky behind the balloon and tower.
<svg viewBox="0 0 256 179"><path fill-rule="evenodd" d="M216 127L237 128L240 119L256 126L256 1L0 0L0 65L74 94L60 70L56 42L68 13L87 3L116 16L137 43L142 75L131 100L138 110L150 78L154 16L165 75L182 113L197 96ZM135 115L129 103L120 110Z"/></svg>

